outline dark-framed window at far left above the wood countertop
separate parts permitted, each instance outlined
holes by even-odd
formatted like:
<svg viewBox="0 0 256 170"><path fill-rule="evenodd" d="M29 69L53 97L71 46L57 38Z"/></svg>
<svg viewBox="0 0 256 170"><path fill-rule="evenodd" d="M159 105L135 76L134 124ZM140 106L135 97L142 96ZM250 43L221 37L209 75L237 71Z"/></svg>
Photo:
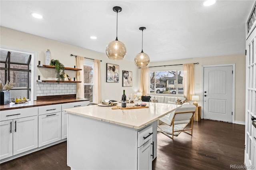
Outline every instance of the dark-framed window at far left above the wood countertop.
<svg viewBox="0 0 256 170"><path fill-rule="evenodd" d="M11 101L23 96L31 99L31 58L32 54L25 52L0 50L0 80L15 83L10 89Z"/></svg>

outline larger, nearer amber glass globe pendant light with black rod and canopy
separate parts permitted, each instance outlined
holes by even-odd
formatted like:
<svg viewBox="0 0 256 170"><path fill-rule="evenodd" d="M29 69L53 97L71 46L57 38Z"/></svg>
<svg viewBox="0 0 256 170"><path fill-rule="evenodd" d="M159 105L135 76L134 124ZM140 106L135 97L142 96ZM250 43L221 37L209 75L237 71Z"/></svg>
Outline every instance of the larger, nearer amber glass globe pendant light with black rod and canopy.
<svg viewBox="0 0 256 170"><path fill-rule="evenodd" d="M118 41L117 39L117 19L118 12L122 11L122 8L119 6L115 6L113 11L116 12L116 40L110 42L106 47L106 54L111 60L122 60L126 55L126 47L124 43Z"/></svg>

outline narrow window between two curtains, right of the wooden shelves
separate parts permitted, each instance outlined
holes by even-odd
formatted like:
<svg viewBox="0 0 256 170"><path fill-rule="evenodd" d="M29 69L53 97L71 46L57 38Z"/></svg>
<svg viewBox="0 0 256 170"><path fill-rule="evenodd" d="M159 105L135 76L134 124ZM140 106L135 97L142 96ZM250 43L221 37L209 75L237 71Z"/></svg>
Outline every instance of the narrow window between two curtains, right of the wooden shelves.
<svg viewBox="0 0 256 170"><path fill-rule="evenodd" d="M93 67L94 62L84 60L84 98L90 99L90 102L93 101Z"/></svg>

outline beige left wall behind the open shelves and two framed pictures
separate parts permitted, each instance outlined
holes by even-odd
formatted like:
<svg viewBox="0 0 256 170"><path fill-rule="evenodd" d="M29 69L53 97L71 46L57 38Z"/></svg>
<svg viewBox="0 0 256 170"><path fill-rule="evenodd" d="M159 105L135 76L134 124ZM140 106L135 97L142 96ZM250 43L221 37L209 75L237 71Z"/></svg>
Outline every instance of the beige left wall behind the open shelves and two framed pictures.
<svg viewBox="0 0 256 170"><path fill-rule="evenodd" d="M42 38L40 36L35 36L32 34L27 34L24 32L12 30L5 27L0 27L0 40L1 48L8 48L12 50L20 50L24 52L33 52L36 54L35 64L41 61L41 64L45 64L45 52L47 49L51 51L51 59L58 59L66 67L74 67L76 65L75 57L71 57L70 54L83 56L87 58L93 58L102 60L101 62L101 81L102 81L102 99L113 99L121 100L123 90L126 90L126 94L132 92L138 92L139 88L139 76L140 70L134 65L134 62L129 62L126 60L116 61L109 60L104 53L95 52L78 46L73 46L70 44L65 44L55 40L50 40L47 38ZM103 47L105 48L105 47ZM120 80L118 83L107 83L106 82L106 63L119 65ZM133 84L132 87L122 87L122 70L132 71L133 73ZM66 70L66 74L71 77L75 77L75 72ZM36 82L38 75L40 75L41 80L56 80L54 70L46 68L36 67ZM36 98L34 88L34 99Z"/></svg>

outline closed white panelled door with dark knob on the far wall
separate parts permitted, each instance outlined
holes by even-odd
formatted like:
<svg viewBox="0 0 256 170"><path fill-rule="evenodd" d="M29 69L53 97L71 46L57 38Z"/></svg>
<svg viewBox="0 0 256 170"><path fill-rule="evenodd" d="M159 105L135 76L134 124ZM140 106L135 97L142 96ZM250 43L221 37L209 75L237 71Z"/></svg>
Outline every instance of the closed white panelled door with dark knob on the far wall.
<svg viewBox="0 0 256 170"><path fill-rule="evenodd" d="M232 122L233 66L204 67L204 119Z"/></svg>

